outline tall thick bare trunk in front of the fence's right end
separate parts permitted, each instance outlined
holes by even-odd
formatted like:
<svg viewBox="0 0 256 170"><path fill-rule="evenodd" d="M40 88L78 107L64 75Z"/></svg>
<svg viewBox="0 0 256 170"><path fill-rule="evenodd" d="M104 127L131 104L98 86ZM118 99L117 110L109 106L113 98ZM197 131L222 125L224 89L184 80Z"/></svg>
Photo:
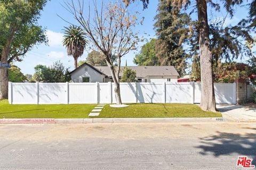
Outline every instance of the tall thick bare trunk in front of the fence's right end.
<svg viewBox="0 0 256 170"><path fill-rule="evenodd" d="M207 0L197 0L199 21L199 49L201 65L201 103L203 111L216 112L213 87L212 53L210 51L209 24L207 17Z"/></svg>

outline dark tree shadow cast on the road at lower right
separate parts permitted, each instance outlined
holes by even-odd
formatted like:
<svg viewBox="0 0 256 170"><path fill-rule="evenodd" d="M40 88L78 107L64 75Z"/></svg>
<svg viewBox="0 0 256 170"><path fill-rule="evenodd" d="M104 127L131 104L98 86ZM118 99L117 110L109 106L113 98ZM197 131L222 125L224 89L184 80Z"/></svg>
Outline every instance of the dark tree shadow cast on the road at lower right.
<svg viewBox="0 0 256 170"><path fill-rule="evenodd" d="M225 133L217 131L217 135L199 138L202 145L196 147L201 148L201 155L206 155L205 152L211 152L215 157L221 155L237 154L238 156L248 156L253 159L252 165L256 165L256 129L255 133L246 133L244 135L237 133Z"/></svg>

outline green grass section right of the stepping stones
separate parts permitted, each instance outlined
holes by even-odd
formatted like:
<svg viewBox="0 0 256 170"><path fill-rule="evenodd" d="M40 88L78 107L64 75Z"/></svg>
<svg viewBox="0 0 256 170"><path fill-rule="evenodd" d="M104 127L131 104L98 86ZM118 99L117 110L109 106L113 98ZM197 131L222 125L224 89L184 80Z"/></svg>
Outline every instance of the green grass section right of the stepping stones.
<svg viewBox="0 0 256 170"><path fill-rule="evenodd" d="M193 104L129 104L114 108L106 105L97 117L142 118L142 117L222 117L220 112L205 112Z"/></svg>

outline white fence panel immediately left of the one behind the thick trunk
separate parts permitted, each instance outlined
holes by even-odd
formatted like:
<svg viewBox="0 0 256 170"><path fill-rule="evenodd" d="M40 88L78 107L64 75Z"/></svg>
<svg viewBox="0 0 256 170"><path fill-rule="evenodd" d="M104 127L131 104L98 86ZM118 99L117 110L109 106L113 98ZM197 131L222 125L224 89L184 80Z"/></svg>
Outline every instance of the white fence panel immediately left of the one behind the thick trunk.
<svg viewBox="0 0 256 170"><path fill-rule="evenodd" d="M190 83L166 83L166 103L193 103L193 85Z"/></svg>

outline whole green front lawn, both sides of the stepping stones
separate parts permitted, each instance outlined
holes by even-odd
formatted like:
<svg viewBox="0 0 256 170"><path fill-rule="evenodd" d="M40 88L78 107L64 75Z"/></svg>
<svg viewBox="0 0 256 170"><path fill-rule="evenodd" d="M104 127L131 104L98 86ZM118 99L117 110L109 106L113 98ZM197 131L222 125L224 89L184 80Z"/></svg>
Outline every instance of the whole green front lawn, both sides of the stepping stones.
<svg viewBox="0 0 256 170"><path fill-rule="evenodd" d="M0 100L0 118L89 118L88 115L95 106L97 104L9 105L7 100ZM97 117L222 117L222 115L220 112L202 111L199 106L192 104L129 104L123 108L106 105Z"/></svg>

